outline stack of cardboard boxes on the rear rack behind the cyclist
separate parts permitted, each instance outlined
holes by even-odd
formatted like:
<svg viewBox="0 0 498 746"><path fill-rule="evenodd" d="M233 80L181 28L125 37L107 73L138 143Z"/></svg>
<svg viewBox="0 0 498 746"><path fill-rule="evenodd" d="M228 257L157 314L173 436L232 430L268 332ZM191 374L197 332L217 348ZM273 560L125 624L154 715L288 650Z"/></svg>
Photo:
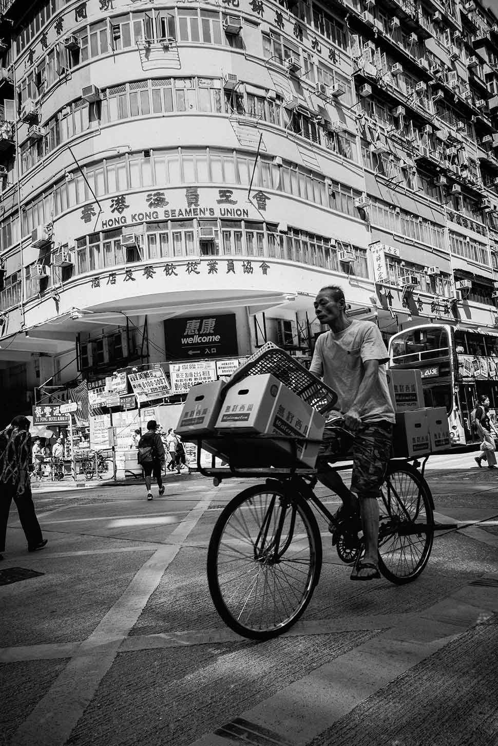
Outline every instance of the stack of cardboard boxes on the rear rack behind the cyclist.
<svg viewBox="0 0 498 746"><path fill-rule="evenodd" d="M424 407L422 376L417 370L388 370L396 413L394 456L425 456L450 448L450 425L444 407Z"/></svg>

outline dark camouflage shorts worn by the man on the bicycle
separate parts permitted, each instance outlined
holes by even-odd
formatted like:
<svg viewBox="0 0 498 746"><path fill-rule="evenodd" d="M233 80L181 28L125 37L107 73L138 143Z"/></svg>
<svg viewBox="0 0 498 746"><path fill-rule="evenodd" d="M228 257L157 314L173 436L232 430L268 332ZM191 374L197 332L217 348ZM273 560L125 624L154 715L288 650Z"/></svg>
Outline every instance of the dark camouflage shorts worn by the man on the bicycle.
<svg viewBox="0 0 498 746"><path fill-rule="evenodd" d="M362 497L376 498L391 458L392 433L393 425L385 420L362 424L354 436L326 427L316 468L324 471L328 463L352 456L351 491Z"/></svg>

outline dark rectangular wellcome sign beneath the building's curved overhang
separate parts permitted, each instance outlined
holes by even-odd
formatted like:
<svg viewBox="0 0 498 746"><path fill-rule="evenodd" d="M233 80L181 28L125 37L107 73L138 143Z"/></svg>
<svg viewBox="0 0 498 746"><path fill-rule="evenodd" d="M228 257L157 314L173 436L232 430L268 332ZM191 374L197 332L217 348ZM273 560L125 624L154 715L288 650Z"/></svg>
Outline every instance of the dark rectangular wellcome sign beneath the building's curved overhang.
<svg viewBox="0 0 498 746"><path fill-rule="evenodd" d="M171 360L237 354L235 313L168 319L164 322L164 333L166 350Z"/></svg>

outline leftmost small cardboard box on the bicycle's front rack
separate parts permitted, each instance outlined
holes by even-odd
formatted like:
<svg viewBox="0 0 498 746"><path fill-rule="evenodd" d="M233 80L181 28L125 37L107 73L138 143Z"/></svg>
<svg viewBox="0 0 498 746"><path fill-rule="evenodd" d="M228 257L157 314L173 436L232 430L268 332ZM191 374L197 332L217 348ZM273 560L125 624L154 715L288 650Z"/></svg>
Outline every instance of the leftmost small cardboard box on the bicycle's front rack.
<svg viewBox="0 0 498 746"><path fill-rule="evenodd" d="M221 391L226 386L222 380L192 386L178 420L178 435L186 439L215 433L215 421L221 408Z"/></svg>

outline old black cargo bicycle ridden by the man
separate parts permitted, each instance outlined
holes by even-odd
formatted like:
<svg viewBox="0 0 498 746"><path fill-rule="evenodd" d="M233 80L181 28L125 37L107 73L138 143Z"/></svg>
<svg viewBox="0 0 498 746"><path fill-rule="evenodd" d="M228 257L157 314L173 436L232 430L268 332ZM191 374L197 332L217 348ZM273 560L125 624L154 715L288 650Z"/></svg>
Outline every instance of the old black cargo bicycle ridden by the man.
<svg viewBox="0 0 498 746"><path fill-rule="evenodd" d="M274 437L274 436L273 436ZM261 436L259 436L261 439ZM289 442L294 442L295 439ZM420 576L432 550L434 502L417 460L392 459L379 496L379 571L391 583ZM313 492L313 469L198 468L214 476L265 477L236 495L221 512L209 541L207 579L215 609L239 635L265 640L303 615L321 573L321 533L310 504L328 521L338 557L362 557L363 538L353 518L338 520ZM331 467L340 471L344 466Z"/></svg>

